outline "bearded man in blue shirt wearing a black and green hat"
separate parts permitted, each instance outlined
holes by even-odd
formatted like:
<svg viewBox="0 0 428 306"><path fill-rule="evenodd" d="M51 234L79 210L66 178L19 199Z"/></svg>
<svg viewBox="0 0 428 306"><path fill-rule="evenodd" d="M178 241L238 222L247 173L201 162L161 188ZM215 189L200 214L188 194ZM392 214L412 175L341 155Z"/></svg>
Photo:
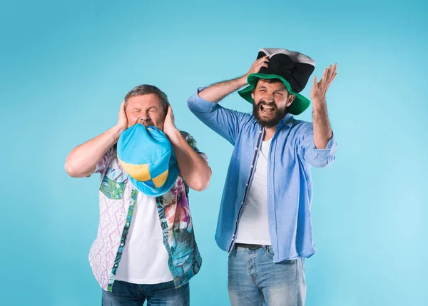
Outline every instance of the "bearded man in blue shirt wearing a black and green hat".
<svg viewBox="0 0 428 306"><path fill-rule="evenodd" d="M325 102L336 65L313 80L313 123L292 116L310 105L300 91L314 68L302 53L260 49L244 76L188 99L190 111L234 146L215 234L229 253L233 306L305 304L304 260L315 253L310 165L329 165L336 151ZM238 93L253 103L253 114L218 104L247 83Z"/></svg>

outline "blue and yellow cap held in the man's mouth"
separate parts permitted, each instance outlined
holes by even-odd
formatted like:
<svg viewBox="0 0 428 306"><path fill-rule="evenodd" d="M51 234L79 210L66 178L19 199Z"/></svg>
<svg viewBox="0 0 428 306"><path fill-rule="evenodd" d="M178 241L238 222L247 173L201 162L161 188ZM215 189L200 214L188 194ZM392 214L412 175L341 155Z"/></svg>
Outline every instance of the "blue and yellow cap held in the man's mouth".
<svg viewBox="0 0 428 306"><path fill-rule="evenodd" d="M118 140L118 160L131 183L142 193L157 197L167 193L178 177L174 148L163 131L136 124Z"/></svg>

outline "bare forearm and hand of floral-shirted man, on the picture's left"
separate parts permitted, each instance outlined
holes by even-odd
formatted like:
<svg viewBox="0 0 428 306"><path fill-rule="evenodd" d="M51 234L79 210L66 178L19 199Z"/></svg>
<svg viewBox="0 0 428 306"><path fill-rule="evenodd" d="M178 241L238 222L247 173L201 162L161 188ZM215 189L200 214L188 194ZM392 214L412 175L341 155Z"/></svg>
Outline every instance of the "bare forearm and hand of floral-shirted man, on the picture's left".
<svg viewBox="0 0 428 306"><path fill-rule="evenodd" d="M128 126L125 114L125 104L122 103L119 112L119 120L116 126L110 128L96 138L73 148L66 158L64 168L66 173L73 178L83 178L91 175L96 170L98 161L103 155L118 142L121 132Z"/></svg>

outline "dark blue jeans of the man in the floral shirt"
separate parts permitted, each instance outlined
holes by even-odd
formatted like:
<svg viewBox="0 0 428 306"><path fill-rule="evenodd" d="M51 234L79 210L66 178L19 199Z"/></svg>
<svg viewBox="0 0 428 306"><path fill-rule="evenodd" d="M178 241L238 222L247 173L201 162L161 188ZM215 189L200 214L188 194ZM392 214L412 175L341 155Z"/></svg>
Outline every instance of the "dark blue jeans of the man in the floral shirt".
<svg viewBox="0 0 428 306"><path fill-rule="evenodd" d="M115 280L111 292L103 290L103 306L189 306L189 283L175 289L174 283L137 285Z"/></svg>

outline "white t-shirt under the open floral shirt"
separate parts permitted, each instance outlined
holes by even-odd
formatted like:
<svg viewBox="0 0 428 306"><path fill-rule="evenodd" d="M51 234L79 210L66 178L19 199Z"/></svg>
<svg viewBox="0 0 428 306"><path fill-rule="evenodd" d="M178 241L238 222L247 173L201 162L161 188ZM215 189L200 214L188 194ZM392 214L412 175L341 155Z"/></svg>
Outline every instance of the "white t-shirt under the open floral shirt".
<svg viewBox="0 0 428 306"><path fill-rule="evenodd" d="M156 198L141 192L137 193L116 280L148 285L173 280L168 267L168 252L163 245Z"/></svg>

